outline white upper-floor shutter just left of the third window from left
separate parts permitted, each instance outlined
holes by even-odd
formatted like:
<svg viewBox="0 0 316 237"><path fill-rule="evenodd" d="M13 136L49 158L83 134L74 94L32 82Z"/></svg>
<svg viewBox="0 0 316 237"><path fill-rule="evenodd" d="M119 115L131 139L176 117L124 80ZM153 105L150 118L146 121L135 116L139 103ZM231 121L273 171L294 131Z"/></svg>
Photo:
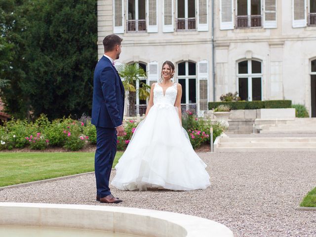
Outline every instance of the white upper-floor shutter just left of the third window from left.
<svg viewBox="0 0 316 237"><path fill-rule="evenodd" d="M220 29L234 29L234 0L220 0Z"/></svg>

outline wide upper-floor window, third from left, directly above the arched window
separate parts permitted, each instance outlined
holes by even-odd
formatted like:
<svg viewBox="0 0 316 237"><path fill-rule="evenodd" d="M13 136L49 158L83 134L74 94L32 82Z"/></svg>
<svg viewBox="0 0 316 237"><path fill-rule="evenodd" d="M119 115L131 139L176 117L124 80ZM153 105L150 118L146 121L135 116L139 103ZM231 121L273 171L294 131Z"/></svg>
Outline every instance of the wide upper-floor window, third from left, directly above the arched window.
<svg viewBox="0 0 316 237"><path fill-rule="evenodd" d="M237 0L237 28L261 27L261 0Z"/></svg>

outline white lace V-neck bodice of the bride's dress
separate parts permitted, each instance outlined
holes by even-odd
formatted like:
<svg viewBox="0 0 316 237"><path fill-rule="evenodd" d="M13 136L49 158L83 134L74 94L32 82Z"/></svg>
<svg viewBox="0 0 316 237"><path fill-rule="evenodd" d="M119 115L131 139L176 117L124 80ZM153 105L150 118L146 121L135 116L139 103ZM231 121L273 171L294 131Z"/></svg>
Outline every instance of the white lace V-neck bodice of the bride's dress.
<svg viewBox="0 0 316 237"><path fill-rule="evenodd" d="M166 89L165 94L163 94L163 88L158 83L156 83L154 87L154 105L167 103L174 106L177 93L177 83L173 83L173 85L169 86Z"/></svg>

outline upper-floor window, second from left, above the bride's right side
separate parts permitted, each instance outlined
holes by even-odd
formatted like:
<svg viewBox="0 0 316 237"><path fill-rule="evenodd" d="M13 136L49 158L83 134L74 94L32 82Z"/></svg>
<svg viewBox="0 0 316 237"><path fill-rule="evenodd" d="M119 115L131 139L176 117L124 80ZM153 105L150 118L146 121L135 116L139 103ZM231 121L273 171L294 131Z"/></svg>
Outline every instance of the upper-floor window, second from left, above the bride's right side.
<svg viewBox="0 0 316 237"><path fill-rule="evenodd" d="M195 0L177 0L177 31L196 30Z"/></svg>

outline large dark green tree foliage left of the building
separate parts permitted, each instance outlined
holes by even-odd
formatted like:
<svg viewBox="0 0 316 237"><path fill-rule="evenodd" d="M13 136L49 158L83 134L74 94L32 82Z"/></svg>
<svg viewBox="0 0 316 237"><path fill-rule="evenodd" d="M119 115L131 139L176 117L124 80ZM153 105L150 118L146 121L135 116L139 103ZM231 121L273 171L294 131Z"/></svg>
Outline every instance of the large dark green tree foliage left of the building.
<svg viewBox="0 0 316 237"><path fill-rule="evenodd" d="M50 119L90 114L97 0L0 0L0 9L13 51L1 96L7 112Z"/></svg>

